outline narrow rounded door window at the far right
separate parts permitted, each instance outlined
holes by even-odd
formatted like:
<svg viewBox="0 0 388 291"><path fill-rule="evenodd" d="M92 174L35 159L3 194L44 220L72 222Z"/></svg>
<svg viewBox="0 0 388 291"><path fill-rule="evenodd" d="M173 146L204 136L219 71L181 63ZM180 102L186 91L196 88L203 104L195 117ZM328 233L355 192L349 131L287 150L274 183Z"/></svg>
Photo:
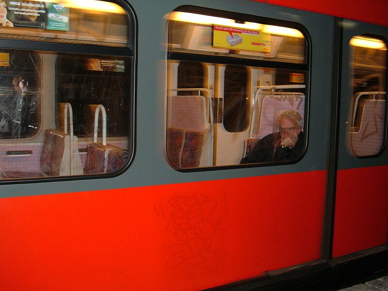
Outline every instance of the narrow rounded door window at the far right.
<svg viewBox="0 0 388 291"><path fill-rule="evenodd" d="M386 120L387 45L380 39L355 36L350 41L353 70L351 150L357 157L379 154Z"/></svg>

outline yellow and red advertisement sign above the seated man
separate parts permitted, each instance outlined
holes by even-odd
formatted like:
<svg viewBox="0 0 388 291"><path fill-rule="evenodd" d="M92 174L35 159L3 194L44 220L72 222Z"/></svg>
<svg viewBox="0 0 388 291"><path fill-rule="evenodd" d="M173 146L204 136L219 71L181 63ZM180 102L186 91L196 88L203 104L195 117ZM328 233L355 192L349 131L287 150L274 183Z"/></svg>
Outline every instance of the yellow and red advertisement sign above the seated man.
<svg viewBox="0 0 388 291"><path fill-rule="evenodd" d="M226 49L271 52L271 34L228 26L213 26L213 46Z"/></svg>

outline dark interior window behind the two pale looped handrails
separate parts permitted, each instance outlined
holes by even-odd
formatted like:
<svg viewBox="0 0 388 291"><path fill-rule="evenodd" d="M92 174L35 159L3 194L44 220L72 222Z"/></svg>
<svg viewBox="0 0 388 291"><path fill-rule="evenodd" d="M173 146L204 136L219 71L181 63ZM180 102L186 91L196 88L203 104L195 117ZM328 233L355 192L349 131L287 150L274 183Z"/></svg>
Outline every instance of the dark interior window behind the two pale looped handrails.
<svg viewBox="0 0 388 291"><path fill-rule="evenodd" d="M61 55L57 60L56 95L73 108L74 134L94 133L91 104L105 107L107 136L125 136L129 124L131 60L123 57ZM58 109L59 110L59 109ZM61 120L58 120L62 122Z"/></svg>

